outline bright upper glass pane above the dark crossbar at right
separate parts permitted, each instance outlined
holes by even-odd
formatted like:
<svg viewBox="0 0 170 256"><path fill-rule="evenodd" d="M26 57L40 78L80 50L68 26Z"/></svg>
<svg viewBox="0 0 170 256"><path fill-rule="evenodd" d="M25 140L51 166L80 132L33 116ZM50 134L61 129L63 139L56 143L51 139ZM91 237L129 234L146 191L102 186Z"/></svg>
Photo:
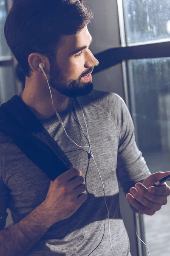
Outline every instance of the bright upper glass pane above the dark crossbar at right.
<svg viewBox="0 0 170 256"><path fill-rule="evenodd" d="M123 0L127 44L170 40L170 0Z"/></svg>

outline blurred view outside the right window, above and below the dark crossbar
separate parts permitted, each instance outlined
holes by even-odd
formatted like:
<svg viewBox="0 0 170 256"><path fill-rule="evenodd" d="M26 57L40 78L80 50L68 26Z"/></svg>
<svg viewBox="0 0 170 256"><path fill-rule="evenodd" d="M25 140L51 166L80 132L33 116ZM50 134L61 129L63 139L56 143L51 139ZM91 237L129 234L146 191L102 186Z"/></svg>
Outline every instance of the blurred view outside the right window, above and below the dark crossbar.
<svg viewBox="0 0 170 256"><path fill-rule="evenodd" d="M170 0L123 0L127 46L170 41ZM136 140L152 173L170 171L170 58L127 62ZM153 256L170 255L170 199L153 216L144 215L146 243Z"/></svg>

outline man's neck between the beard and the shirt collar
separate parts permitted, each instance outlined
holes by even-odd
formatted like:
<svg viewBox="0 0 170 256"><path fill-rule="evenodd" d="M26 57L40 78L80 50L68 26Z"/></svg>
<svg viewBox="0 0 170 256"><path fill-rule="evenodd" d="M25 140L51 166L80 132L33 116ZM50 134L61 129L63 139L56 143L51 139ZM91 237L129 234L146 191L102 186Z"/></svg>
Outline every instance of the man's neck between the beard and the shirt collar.
<svg viewBox="0 0 170 256"><path fill-rule="evenodd" d="M68 106L69 98L51 88L53 103L56 111L61 113ZM48 119L56 114L53 108L51 94L48 84L44 81L30 81L26 78L26 85L21 99L34 113L37 119Z"/></svg>

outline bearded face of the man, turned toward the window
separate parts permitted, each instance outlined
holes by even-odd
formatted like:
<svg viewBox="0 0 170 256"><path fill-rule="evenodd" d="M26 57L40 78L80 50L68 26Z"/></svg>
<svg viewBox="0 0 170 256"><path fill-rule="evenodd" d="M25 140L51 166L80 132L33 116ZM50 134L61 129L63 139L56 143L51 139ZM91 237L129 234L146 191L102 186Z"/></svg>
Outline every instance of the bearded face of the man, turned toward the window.
<svg viewBox="0 0 170 256"><path fill-rule="evenodd" d="M65 35L57 58L50 61L50 85L67 97L79 97L93 89L92 73L99 64L88 49L92 41L87 27L79 34Z"/></svg>

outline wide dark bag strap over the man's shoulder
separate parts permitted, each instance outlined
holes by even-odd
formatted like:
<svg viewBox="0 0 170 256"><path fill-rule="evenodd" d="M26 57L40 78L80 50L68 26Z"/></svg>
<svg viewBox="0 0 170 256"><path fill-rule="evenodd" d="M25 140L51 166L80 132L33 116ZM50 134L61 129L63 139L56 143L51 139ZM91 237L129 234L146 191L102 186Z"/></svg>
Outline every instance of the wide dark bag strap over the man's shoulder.
<svg viewBox="0 0 170 256"><path fill-rule="evenodd" d="M51 180L71 169L71 161L19 96L1 105L0 131Z"/></svg>

